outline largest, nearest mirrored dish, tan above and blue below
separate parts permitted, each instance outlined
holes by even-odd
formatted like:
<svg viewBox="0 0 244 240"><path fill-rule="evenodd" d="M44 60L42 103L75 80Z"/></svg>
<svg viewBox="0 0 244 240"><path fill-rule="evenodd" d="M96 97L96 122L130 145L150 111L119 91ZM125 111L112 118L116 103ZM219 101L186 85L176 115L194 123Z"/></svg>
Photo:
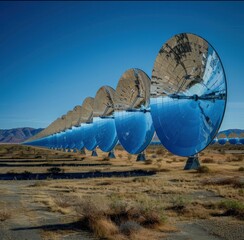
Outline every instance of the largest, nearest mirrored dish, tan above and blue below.
<svg viewBox="0 0 244 240"><path fill-rule="evenodd" d="M160 49L152 72L151 114L161 143L192 156L207 147L221 125L226 77L215 49L194 34L178 34Z"/></svg>

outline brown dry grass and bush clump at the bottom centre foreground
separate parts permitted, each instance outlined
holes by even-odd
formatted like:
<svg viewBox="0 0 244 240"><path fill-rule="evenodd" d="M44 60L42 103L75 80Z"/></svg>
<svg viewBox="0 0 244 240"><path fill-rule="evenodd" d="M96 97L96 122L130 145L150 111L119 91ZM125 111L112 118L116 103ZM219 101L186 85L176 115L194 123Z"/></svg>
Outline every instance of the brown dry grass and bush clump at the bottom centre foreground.
<svg viewBox="0 0 244 240"><path fill-rule="evenodd" d="M131 237L138 230L155 229L165 222L159 203L147 196L137 196L129 203L118 195L83 198L76 212L83 227L106 239Z"/></svg>

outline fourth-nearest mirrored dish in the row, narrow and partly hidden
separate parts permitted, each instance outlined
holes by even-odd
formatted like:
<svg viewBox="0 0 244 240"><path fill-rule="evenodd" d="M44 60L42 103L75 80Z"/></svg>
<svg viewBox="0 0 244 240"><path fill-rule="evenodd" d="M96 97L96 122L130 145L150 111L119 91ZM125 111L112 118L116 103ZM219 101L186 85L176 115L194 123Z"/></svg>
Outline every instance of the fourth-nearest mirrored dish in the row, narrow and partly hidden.
<svg viewBox="0 0 244 240"><path fill-rule="evenodd" d="M87 97L81 106L82 139L86 149L93 151L96 146L95 127L93 123L94 98Z"/></svg>

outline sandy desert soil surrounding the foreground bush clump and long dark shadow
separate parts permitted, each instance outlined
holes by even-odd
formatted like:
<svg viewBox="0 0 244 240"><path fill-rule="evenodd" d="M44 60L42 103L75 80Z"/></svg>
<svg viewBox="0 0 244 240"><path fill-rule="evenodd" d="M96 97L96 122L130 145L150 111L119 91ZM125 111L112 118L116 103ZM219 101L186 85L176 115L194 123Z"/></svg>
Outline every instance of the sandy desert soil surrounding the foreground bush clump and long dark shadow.
<svg viewBox="0 0 244 240"><path fill-rule="evenodd" d="M218 207L223 201L244 202L244 172L240 171L244 147L216 145L204 150L200 161L209 168L207 173L183 171L186 159L161 146L148 148L146 162L136 162L136 156L120 147L115 154L116 159L108 159L99 150L98 157L90 157L90 152L0 145L0 179L24 171L27 175L47 173L51 167L63 169L64 174L155 172L152 176L53 179L50 175L46 180L1 180L0 239L96 239L82 230L76 212L79 200L87 196L116 196L128 203L148 197L162 205L166 223L155 239L244 239L243 218Z"/></svg>

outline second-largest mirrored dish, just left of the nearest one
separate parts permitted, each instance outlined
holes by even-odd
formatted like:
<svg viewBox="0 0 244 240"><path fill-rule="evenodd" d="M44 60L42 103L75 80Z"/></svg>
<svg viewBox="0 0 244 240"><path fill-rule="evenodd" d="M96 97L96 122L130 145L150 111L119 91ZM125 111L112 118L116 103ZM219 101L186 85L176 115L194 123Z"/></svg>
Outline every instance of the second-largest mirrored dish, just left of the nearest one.
<svg viewBox="0 0 244 240"><path fill-rule="evenodd" d="M151 142L154 127L149 112L150 78L140 69L129 69L120 78L114 97L119 142L132 154Z"/></svg>

